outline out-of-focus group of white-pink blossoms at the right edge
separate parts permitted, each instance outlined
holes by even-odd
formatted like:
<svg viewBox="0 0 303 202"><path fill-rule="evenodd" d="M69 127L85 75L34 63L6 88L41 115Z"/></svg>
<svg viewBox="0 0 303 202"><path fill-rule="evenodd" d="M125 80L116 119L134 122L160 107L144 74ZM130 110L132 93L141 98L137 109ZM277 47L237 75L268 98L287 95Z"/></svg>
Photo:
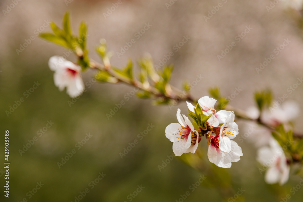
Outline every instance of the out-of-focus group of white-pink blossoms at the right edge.
<svg viewBox="0 0 303 202"><path fill-rule="evenodd" d="M264 109L261 113L257 108L250 107L247 110L247 115L252 119L260 117L262 122L272 127L283 124L286 129L291 128L289 122L298 116L300 110L298 104L294 101L285 101L281 105L273 102L272 106L269 109ZM248 141L252 142L257 148L257 161L262 165L261 171L267 169L265 182L268 184L285 184L290 172L285 149L272 137L268 128L254 123L251 124L255 129L248 136Z"/></svg>

